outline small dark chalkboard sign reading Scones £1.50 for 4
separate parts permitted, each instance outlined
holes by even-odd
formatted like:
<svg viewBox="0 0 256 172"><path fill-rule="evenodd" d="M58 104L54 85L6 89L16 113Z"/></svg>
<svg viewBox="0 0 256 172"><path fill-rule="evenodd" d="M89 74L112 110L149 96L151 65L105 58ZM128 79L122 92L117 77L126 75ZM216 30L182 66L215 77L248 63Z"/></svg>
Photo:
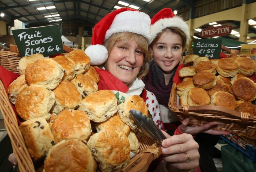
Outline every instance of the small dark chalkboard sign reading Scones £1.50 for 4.
<svg viewBox="0 0 256 172"><path fill-rule="evenodd" d="M221 43L221 39L195 39L193 54L207 56L209 59L220 59Z"/></svg>

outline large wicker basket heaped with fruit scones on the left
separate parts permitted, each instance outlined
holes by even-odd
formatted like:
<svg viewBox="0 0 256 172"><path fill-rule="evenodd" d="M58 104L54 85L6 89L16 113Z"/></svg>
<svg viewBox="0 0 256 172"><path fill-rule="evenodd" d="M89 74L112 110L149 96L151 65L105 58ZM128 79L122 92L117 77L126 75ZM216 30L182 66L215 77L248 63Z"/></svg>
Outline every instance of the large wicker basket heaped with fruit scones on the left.
<svg viewBox="0 0 256 172"><path fill-rule="evenodd" d="M20 75L0 66L0 110L20 171L147 171L161 154L128 117L130 108L148 114L143 99L98 91L83 51L16 61Z"/></svg>

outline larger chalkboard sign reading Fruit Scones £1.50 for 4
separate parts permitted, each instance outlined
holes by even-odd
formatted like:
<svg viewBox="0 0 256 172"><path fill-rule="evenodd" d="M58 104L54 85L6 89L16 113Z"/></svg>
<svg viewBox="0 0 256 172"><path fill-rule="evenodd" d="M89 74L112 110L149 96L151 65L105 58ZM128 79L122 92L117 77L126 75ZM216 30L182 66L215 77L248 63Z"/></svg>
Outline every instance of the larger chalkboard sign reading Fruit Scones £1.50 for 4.
<svg viewBox="0 0 256 172"><path fill-rule="evenodd" d="M12 34L20 57L38 53L47 57L63 53L59 25L16 29Z"/></svg>

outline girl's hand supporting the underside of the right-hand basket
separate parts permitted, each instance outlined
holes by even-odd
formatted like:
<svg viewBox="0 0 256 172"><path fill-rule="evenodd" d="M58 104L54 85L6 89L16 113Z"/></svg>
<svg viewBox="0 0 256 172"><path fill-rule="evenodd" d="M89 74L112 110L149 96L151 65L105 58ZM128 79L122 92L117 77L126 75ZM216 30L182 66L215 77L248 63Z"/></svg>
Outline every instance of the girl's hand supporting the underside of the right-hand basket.
<svg viewBox="0 0 256 172"><path fill-rule="evenodd" d="M209 122L207 124L204 125L200 125L200 126L188 126L189 123L189 119L186 118L182 124L180 125L180 131L182 133L188 133L191 135L196 135L198 133L208 133L208 134L212 134L212 135L228 135L230 134L230 132L228 131L220 131L220 130L214 130L214 129L210 129L212 126L217 125L217 122Z"/></svg>

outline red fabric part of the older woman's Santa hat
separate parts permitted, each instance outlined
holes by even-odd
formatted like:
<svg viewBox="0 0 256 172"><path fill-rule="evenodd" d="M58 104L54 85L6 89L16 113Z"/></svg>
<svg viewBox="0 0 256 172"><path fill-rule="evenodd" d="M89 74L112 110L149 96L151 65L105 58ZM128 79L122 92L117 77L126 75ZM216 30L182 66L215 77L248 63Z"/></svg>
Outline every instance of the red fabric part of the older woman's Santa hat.
<svg viewBox="0 0 256 172"><path fill-rule="evenodd" d="M131 8L120 8L118 10L108 13L93 27L92 45L103 44L106 32L111 26L116 15L124 11L137 11L137 10L133 10Z"/></svg>

